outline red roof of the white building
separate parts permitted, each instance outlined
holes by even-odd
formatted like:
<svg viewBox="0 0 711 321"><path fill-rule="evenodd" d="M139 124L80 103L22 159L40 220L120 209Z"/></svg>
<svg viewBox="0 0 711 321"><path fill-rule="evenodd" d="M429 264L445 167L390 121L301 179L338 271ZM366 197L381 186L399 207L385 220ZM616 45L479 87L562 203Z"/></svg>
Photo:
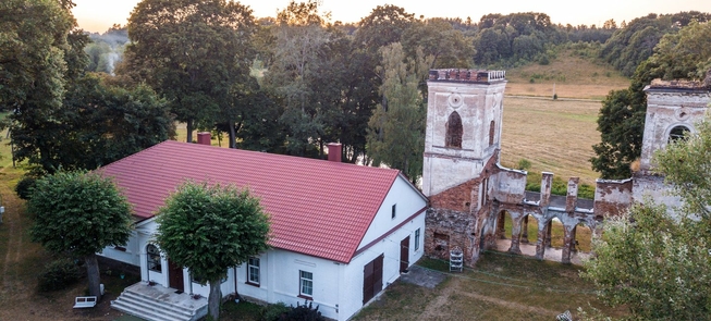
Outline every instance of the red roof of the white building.
<svg viewBox="0 0 711 321"><path fill-rule="evenodd" d="M185 180L234 184L258 196L270 245L350 262L399 171L168 140L113 162L139 219L154 217Z"/></svg>

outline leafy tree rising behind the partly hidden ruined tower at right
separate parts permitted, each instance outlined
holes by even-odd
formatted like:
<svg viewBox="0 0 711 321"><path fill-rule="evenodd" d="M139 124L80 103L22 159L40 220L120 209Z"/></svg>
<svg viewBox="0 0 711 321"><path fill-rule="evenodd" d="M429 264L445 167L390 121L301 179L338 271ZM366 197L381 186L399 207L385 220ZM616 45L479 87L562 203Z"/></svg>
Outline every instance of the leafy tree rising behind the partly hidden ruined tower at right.
<svg viewBox="0 0 711 321"><path fill-rule="evenodd" d="M629 177L629 164L641 153L647 111L643 88L654 78L702 77L711 67L711 25L691 23L662 38L652 57L635 72L628 89L611 91L598 118L601 143L592 146L592 169L603 178Z"/></svg>

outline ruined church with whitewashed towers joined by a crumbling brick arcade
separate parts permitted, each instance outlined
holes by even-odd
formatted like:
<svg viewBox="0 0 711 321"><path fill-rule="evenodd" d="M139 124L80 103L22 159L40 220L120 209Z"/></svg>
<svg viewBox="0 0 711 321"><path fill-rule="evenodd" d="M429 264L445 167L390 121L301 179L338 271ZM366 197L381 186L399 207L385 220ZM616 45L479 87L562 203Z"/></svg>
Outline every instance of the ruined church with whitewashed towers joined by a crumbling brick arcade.
<svg viewBox="0 0 711 321"><path fill-rule="evenodd" d="M502 236L504 214L512 218L510 252L527 242L528 218L538 222L536 257L544 258L551 222L564 227L562 262L571 262L577 226L600 233L605 217L616 215L643 195L667 205L669 186L651 169L653 152L685 132L695 133L711 101L711 85L655 81L648 86L647 118L639 170L622 181L598 180L594 199L577 197L578 177L571 177L566 196L551 195L553 173L543 172L540 193L526 192L527 172L500 164L503 71L432 70L428 79L427 131L422 193L430 200L425 249L449 259L459 248L467 266Z"/></svg>

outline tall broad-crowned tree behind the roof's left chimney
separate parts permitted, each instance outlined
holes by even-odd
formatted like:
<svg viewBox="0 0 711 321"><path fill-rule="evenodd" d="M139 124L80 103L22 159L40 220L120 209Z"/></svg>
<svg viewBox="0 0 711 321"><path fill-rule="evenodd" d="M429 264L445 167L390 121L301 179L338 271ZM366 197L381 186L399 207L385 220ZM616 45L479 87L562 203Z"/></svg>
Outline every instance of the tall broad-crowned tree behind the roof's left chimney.
<svg viewBox="0 0 711 321"><path fill-rule="evenodd" d="M192 141L193 129L211 127L233 85L249 76L254 32L252 10L238 2L144 0L128 18L125 59L135 77L169 99Z"/></svg>

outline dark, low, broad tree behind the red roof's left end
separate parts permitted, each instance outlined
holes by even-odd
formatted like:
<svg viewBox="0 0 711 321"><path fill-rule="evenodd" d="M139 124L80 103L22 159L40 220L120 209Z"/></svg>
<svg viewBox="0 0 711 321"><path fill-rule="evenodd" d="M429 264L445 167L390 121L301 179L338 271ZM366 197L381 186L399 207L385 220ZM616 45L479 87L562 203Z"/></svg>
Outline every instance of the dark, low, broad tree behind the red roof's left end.
<svg viewBox="0 0 711 321"><path fill-rule="evenodd" d="M145 85L125 89L87 74L68 88L51 118L10 123L17 160L46 173L93 170L174 136L166 101Z"/></svg>

